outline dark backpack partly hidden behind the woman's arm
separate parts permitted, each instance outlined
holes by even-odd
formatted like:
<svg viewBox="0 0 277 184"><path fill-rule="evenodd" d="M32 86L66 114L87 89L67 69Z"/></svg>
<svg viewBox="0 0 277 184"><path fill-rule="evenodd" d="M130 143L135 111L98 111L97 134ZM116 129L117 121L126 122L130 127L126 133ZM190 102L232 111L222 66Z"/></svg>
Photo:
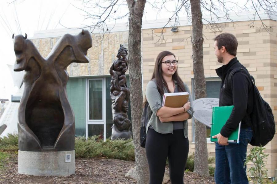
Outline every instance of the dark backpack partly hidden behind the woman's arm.
<svg viewBox="0 0 277 184"><path fill-rule="evenodd" d="M148 119L148 106L149 106L149 103L146 102L146 104L143 107L143 114L142 114L142 117L141 117L140 146L143 147L143 148L145 148L145 143L146 143L146 125L149 121L149 119ZM152 114L152 112L151 112L151 114Z"/></svg>

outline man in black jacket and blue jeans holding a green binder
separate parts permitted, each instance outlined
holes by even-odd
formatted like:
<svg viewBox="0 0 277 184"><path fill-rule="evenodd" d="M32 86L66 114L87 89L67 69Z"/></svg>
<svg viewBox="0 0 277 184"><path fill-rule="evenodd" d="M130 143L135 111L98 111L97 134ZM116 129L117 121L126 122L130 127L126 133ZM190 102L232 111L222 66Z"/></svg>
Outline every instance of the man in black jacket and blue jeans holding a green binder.
<svg viewBox="0 0 277 184"><path fill-rule="evenodd" d="M247 75L235 72L228 80L230 71L244 67L235 57L238 41L230 33L222 33L214 38L215 56L223 66L216 69L221 78L219 106L234 105L232 113L220 133L213 136L218 138L215 144L215 182L217 184L248 183L246 167L247 144L251 141L252 130L249 114L253 109L253 87ZM228 137L239 126L241 131L239 144L228 144Z"/></svg>

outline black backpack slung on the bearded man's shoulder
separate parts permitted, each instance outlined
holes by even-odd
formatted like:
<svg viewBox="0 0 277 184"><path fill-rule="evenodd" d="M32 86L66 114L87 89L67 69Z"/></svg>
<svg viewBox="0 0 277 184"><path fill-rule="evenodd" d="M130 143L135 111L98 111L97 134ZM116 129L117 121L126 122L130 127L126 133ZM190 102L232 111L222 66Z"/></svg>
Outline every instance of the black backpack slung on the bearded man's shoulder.
<svg viewBox="0 0 277 184"><path fill-rule="evenodd" d="M229 81L231 81L231 78L235 72L243 72L246 74L254 88L253 111L250 114L253 138L250 141L250 144L252 146L265 146L275 135L275 121L272 109L261 97L258 88L255 86L255 79L249 74L247 69L236 68L232 70L228 76Z"/></svg>

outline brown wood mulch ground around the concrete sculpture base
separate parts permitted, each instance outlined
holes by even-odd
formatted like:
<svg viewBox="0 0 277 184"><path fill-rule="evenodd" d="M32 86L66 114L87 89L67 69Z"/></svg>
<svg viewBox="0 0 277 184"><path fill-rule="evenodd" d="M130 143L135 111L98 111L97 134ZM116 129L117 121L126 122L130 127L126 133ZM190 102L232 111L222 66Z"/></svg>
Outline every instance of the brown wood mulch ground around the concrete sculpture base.
<svg viewBox="0 0 277 184"><path fill-rule="evenodd" d="M16 155L11 156L6 162L2 171L0 171L0 183L17 183L17 184L129 184L137 183L131 178L126 178L125 174L129 169L135 166L132 161L117 159L75 159L75 174L67 177L45 177L30 176L17 173L18 158ZM171 183L170 181L168 184ZM215 183L213 177L203 178L191 172L186 172L184 183Z"/></svg>

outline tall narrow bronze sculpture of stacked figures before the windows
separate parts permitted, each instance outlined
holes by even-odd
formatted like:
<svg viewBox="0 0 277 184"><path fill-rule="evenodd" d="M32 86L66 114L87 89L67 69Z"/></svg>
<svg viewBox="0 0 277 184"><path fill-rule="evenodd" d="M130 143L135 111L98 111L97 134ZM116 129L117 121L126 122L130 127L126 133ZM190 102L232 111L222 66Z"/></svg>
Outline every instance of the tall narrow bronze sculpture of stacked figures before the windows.
<svg viewBox="0 0 277 184"><path fill-rule="evenodd" d="M111 139L130 139L131 122L128 119L128 106L130 92L127 87L125 72L128 70L127 49L120 44L117 60L110 67L111 86L110 97L112 101L113 126Z"/></svg>

